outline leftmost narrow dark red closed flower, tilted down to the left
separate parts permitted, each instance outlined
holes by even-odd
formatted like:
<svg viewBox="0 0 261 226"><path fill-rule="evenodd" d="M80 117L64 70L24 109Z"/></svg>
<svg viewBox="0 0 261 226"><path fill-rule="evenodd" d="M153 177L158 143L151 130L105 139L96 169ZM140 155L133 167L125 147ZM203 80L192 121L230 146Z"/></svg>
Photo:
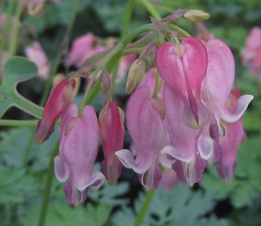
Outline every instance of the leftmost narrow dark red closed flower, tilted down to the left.
<svg viewBox="0 0 261 226"><path fill-rule="evenodd" d="M65 78L51 89L42 119L37 123L35 144L42 144L53 133L56 121L73 98L75 84L75 80L69 81Z"/></svg>

